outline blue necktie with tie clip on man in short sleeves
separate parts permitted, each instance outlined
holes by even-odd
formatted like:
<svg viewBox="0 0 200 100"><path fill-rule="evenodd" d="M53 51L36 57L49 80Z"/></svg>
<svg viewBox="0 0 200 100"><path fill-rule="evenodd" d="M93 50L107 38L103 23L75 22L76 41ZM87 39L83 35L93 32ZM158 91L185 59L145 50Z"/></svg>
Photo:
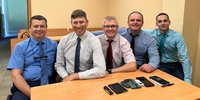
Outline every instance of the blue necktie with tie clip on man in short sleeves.
<svg viewBox="0 0 200 100"><path fill-rule="evenodd" d="M48 67L47 67L47 56L45 55L43 44L44 42L39 42L39 58L40 58L40 64L41 64L41 79L40 84L46 85L49 83L48 78Z"/></svg>

